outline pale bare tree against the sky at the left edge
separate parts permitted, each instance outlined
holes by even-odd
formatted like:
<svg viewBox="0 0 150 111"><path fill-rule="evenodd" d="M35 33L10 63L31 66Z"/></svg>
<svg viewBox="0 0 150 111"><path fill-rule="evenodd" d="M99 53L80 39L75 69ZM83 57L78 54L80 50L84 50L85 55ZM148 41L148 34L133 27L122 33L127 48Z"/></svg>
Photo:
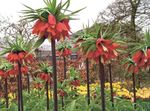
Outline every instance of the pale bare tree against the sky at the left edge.
<svg viewBox="0 0 150 111"><path fill-rule="evenodd" d="M13 23L10 18L0 17L0 45L6 45L7 40L14 39L18 35L22 35L24 40L35 40L31 29L31 24L26 20Z"/></svg>

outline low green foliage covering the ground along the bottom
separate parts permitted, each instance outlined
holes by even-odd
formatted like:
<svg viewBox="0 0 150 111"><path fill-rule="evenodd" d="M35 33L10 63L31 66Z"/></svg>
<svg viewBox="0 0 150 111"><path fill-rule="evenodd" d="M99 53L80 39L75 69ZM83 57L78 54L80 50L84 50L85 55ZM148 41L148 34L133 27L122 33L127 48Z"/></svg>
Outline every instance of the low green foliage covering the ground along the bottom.
<svg viewBox="0 0 150 111"><path fill-rule="evenodd" d="M100 91L100 89L97 89ZM70 91L72 92L72 91ZM72 96L67 91L68 95L64 97L64 108L61 107L61 98L58 98L58 107L60 111L101 111L101 96L97 92L97 96L93 98L91 96L90 105L87 104L87 98L83 95ZM119 97L114 98L114 107L109 98L109 93L106 92L106 111L149 111L150 101L149 100L137 100L136 110L134 110L131 100L123 99ZM46 110L46 95L44 88L41 90L32 89L30 93L24 91L24 111L45 111ZM50 98L50 110L53 111L53 98ZM4 102L0 100L1 111L6 111ZM12 101L8 111L17 111L16 101Z"/></svg>

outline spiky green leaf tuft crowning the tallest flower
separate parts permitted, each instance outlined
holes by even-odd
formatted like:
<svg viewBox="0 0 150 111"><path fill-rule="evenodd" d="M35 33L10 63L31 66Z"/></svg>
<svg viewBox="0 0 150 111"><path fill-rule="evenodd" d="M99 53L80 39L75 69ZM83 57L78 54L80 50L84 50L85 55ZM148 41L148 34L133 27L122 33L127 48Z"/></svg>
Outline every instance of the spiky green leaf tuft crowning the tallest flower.
<svg viewBox="0 0 150 111"><path fill-rule="evenodd" d="M82 8L74 12L70 11L68 9L70 6L70 0L66 0L65 2L61 1L59 3L57 3L57 0L43 0L43 1L46 5L46 7L44 8L33 9L27 5L24 5L27 9L22 10L22 13L24 14L23 19L25 20L27 19L29 21L35 21L37 19L47 21L49 14L54 15L57 21L61 21L63 19L74 19L71 16L75 15L76 13L84 9Z"/></svg>

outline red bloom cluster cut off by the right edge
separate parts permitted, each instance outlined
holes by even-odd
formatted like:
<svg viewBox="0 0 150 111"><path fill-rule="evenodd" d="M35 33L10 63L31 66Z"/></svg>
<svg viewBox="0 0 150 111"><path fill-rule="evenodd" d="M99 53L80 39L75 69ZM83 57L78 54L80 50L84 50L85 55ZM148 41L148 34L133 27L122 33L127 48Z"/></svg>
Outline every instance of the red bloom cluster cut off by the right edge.
<svg viewBox="0 0 150 111"><path fill-rule="evenodd" d="M145 52L142 50L137 51L132 59L136 64L137 68L147 68L150 66L150 49L147 49Z"/></svg>

